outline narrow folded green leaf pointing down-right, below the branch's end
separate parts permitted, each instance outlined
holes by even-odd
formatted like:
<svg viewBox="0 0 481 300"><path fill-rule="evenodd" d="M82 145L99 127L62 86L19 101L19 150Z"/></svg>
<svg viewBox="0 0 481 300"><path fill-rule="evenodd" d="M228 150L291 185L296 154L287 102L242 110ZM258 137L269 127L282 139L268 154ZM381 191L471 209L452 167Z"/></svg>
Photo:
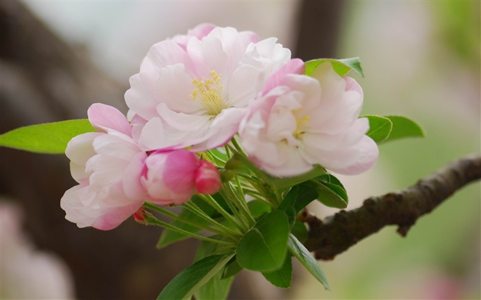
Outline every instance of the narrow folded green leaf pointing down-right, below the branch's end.
<svg viewBox="0 0 481 300"><path fill-rule="evenodd" d="M301 242L295 238L294 235L289 235L289 241L287 244L289 251L294 255L295 258L309 271L312 275L314 275L315 279L319 281L326 290L329 290L329 284L326 279L326 275L324 275L324 271L317 263L317 260L311 255L309 250L304 247Z"/></svg>

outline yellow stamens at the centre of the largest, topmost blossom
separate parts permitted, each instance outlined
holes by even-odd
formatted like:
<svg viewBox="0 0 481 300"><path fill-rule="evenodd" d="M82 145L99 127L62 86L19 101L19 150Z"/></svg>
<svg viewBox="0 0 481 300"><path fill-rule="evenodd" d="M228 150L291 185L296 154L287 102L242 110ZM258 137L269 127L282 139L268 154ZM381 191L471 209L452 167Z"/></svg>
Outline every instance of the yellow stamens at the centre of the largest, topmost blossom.
<svg viewBox="0 0 481 300"><path fill-rule="evenodd" d="M195 89L190 97L194 101L201 101L208 115L219 115L224 108L227 108L222 101L224 86L221 84L221 76L216 71L210 71L209 78L202 78L202 80L194 78L192 84Z"/></svg>

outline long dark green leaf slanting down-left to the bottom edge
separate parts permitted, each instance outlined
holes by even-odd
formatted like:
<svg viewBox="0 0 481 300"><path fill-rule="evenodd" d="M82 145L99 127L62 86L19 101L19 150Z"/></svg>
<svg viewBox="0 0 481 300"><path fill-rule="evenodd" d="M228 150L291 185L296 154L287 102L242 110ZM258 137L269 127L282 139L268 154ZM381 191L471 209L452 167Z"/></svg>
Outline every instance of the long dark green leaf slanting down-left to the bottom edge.
<svg viewBox="0 0 481 300"><path fill-rule="evenodd" d="M234 257L234 252L211 255L194 262L177 274L160 292L157 300L189 299Z"/></svg>

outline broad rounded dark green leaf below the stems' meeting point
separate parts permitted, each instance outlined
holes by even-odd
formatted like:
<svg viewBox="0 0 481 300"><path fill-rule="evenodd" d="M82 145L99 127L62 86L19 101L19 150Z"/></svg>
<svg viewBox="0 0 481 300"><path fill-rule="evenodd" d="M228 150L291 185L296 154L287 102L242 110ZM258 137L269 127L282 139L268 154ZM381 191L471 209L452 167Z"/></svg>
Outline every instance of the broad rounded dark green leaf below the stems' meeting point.
<svg viewBox="0 0 481 300"><path fill-rule="evenodd" d="M249 270L277 270L287 254L289 221L283 211L272 211L249 229L237 244L237 262Z"/></svg>

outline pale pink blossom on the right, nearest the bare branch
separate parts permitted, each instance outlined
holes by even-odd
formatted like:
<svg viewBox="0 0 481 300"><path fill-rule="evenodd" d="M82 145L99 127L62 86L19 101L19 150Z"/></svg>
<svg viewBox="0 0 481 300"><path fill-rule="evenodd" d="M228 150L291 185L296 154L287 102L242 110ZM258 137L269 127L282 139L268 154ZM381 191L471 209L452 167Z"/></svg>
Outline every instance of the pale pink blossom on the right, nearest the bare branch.
<svg viewBox="0 0 481 300"><path fill-rule="evenodd" d="M277 176L308 172L313 165L340 174L359 174L374 165L376 143L366 136L368 119L359 118L363 91L324 62L312 76L291 60L273 73L262 98L240 126L249 159Z"/></svg>

